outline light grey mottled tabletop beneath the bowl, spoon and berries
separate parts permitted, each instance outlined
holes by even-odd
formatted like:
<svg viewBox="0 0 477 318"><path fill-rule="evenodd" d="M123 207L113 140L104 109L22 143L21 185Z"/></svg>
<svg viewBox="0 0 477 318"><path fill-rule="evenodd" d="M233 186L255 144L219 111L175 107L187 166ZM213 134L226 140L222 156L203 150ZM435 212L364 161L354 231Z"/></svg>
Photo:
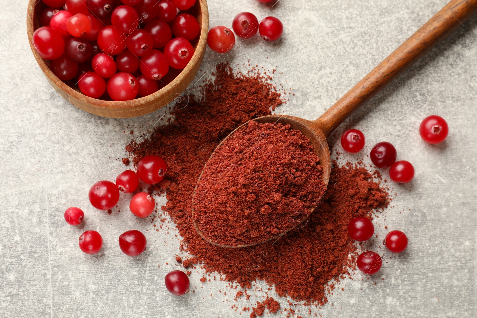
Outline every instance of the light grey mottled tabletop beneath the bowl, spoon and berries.
<svg viewBox="0 0 477 318"><path fill-rule="evenodd" d="M240 11L283 21L280 41L238 41L226 58L232 65L250 60L276 68L277 84L296 93L277 112L314 119L446 0L280 0L273 8L256 0L208 2L210 26L230 26ZM250 301L235 302L218 292L228 291L227 283L201 284L202 271L193 271L196 292L172 296L163 279L179 268L175 228L171 225L168 234L153 232L148 221L131 217L125 199L114 215L89 205L89 187L124 170L116 159L124 156L131 135L123 131L134 130L138 137L166 111L116 120L62 100L31 54L26 3L1 1L0 317L239 317L230 307L251 307L263 293L250 291ZM312 317L475 317L476 45L474 17L338 129L338 135L349 127L361 129L368 146L392 142L398 158L414 164L414 181L394 185L394 206L375 221L381 229L404 230L410 243L405 253L387 260L379 278L362 281L357 272L354 280L344 280L345 291L323 308L313 307ZM204 73L209 77L219 60L207 49L194 82ZM449 123L443 144L427 145L419 137L419 123L430 114ZM64 222L69 206L83 207L87 219L80 228ZM136 258L117 246L119 234L132 227L148 238L147 251ZM79 251L77 239L85 229L102 233L104 247L98 255ZM377 241L385 235L379 232ZM279 300L282 308L288 307L285 299ZM307 310L297 314L308 317Z"/></svg>

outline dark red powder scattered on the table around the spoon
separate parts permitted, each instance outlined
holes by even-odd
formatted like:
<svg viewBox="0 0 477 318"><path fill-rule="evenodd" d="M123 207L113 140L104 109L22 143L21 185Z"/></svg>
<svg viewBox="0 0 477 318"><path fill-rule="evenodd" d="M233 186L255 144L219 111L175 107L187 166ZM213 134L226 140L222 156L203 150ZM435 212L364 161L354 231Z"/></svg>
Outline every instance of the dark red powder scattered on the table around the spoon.
<svg viewBox="0 0 477 318"><path fill-rule="evenodd" d="M330 281L349 275L354 264L357 253L347 233L349 221L387 204L387 193L376 181L379 174L353 164L335 165L328 190L302 228L257 246L209 244L191 222L192 194L202 168L221 138L252 118L270 114L269 107L281 100L261 75L234 74L227 65L218 66L215 80L207 82L202 93L200 100L191 96L184 109L174 111L176 118L156 128L149 139L126 146L135 165L150 154L166 161L166 178L151 190L166 192L163 209L183 237L183 250L196 256L207 272L219 272L222 279L242 287L264 280L279 296L324 304L327 290L334 288Z"/></svg>

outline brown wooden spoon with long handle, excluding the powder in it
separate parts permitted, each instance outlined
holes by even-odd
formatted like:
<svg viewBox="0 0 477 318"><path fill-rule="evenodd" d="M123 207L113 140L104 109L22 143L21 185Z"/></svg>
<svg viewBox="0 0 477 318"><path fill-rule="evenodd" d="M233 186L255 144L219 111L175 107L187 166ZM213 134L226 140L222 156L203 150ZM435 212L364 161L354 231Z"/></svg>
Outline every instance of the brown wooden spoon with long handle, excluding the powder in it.
<svg viewBox="0 0 477 318"><path fill-rule="evenodd" d="M330 149L327 139L330 134L346 118L353 114L364 103L368 102L376 93L381 91L387 84L392 82L401 72L407 69L411 64L421 58L427 51L442 41L457 27L462 25L477 10L477 0L452 0L442 10L436 13L419 30L417 30L409 39L404 41L394 52L392 52L383 62L379 63L373 71L358 82L349 92L344 94L330 109L323 113L320 118L309 121L303 118L289 115L269 115L254 119L258 123L277 123L290 124L293 129L301 131L307 136L313 146L314 151L320 157L321 167L323 168L323 181L328 185L331 172ZM247 123L245 123L247 124ZM245 125L244 124L244 125ZM242 125L243 126L243 125ZM240 126L240 127L242 127ZM239 128L240 128L239 127ZM237 128L237 129L239 129ZM236 129L236 130L237 130ZM230 133L222 143L232 135L236 130ZM214 152L215 153L215 152ZM212 153L211 157L214 156ZM207 165L207 164L206 164ZM198 182L200 181L200 177ZM197 182L197 183L198 183ZM197 188L197 186L196 186ZM192 217L197 233L207 242L222 247L244 247L251 246L265 241L257 241L254 244L224 246L207 238L198 228L194 218L194 199L195 190L192 198ZM306 217L305 217L306 218ZM212 225L211 225L212 226ZM289 229L291 230L291 228ZM277 239L283 235L280 233L271 239Z"/></svg>

